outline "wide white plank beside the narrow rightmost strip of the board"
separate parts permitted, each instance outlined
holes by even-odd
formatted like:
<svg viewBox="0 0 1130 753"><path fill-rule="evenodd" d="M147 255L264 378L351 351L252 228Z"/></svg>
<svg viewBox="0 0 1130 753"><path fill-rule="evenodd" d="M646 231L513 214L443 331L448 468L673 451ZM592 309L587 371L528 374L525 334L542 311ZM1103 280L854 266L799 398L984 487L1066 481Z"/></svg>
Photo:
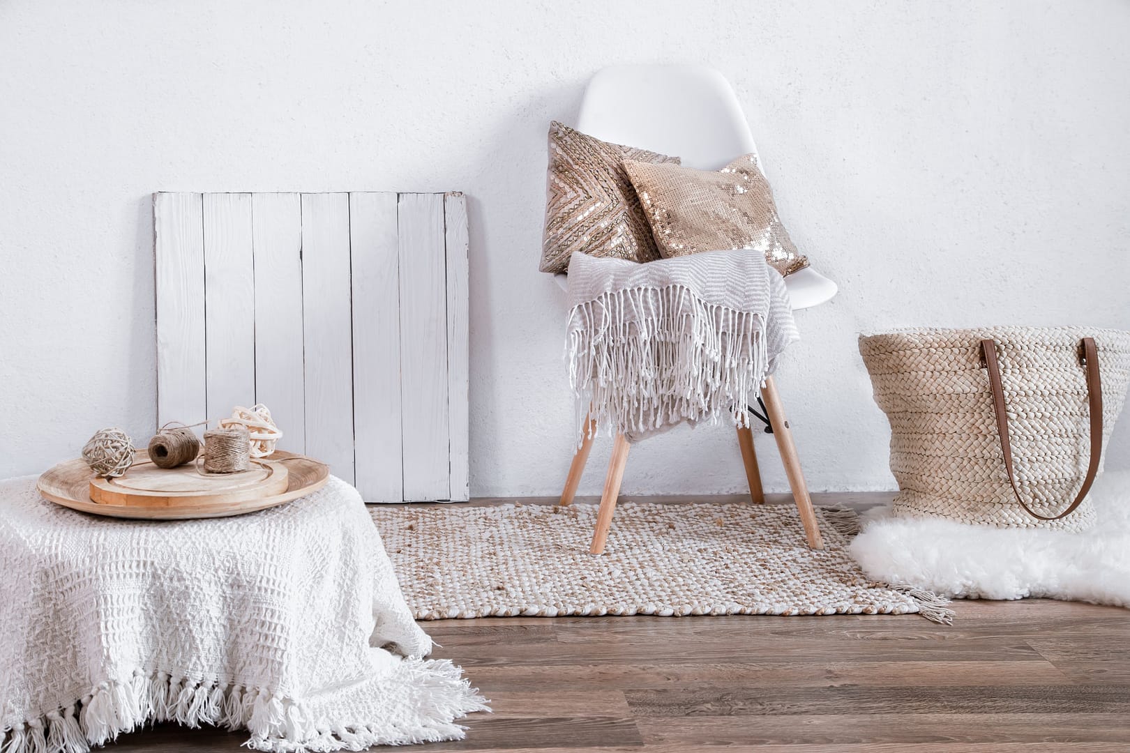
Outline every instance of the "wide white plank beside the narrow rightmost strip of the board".
<svg viewBox="0 0 1130 753"><path fill-rule="evenodd" d="M451 482L443 194L400 194L397 225L405 499L447 499Z"/></svg>

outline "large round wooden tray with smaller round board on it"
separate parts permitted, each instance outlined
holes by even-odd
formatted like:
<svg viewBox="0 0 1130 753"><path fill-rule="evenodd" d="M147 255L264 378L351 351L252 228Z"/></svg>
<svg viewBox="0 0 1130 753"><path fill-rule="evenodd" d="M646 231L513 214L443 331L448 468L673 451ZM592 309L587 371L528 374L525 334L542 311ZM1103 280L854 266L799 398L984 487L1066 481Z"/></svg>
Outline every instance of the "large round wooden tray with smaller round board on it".
<svg viewBox="0 0 1130 753"><path fill-rule="evenodd" d="M60 463L40 476L40 493L82 513L115 518L183 520L254 513L304 497L325 485L324 463L276 452L250 471L200 475L191 466L157 469L145 450L118 479L99 479L82 459Z"/></svg>

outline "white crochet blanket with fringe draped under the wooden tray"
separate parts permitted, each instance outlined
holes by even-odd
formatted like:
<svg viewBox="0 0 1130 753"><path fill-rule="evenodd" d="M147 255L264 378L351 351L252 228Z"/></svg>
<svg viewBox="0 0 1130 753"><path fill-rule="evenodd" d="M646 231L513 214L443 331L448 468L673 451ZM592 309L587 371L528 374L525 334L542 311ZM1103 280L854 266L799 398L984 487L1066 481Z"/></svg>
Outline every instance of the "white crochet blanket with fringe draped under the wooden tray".
<svg viewBox="0 0 1130 753"><path fill-rule="evenodd" d="M167 523L98 518L0 482L0 750L78 753L146 723L261 751L462 737L484 709L423 659L357 491Z"/></svg>

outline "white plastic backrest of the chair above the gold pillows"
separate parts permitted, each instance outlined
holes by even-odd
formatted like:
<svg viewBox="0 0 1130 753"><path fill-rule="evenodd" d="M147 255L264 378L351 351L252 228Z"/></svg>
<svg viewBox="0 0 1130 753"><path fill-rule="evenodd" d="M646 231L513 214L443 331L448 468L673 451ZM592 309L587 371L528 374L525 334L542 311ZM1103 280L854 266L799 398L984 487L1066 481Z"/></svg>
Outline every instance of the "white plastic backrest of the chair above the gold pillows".
<svg viewBox="0 0 1130 753"><path fill-rule="evenodd" d="M584 90L576 128L605 141L680 157L699 169L757 154L730 82L705 65L605 68Z"/></svg>

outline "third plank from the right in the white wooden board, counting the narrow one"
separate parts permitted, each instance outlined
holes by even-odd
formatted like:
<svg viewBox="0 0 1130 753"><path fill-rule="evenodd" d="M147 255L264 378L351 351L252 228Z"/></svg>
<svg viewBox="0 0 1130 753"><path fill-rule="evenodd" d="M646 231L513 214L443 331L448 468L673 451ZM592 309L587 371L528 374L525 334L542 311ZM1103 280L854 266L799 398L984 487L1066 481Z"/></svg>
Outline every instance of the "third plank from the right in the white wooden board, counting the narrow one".
<svg viewBox="0 0 1130 753"><path fill-rule="evenodd" d="M366 502L400 502L405 487L397 194L349 194L349 236L355 485Z"/></svg>

